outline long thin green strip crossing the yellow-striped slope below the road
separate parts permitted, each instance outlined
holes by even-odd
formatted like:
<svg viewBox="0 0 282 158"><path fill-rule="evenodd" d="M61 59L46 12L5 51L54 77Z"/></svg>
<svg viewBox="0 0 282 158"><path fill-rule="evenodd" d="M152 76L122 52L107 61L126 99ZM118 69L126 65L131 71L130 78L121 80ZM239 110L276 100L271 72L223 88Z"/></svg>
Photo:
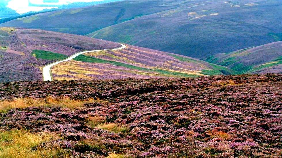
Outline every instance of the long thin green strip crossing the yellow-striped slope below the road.
<svg viewBox="0 0 282 158"><path fill-rule="evenodd" d="M148 68L143 68L143 67L125 64L125 63L120 63L120 62L117 62L117 61L104 60L104 59L100 59L100 58L96 58L96 57L92 57L92 56L86 56L86 55L79 55L76 58L74 58L74 60L89 62L89 63L111 64L111 65L126 67L128 69L135 69L135 70L140 70L140 71L148 71L148 72L152 72L152 73L158 73L159 75L163 75L163 76L167 76L167 77L186 77L186 78L200 77L198 75L179 73L179 72L162 70L162 69L148 69Z"/></svg>

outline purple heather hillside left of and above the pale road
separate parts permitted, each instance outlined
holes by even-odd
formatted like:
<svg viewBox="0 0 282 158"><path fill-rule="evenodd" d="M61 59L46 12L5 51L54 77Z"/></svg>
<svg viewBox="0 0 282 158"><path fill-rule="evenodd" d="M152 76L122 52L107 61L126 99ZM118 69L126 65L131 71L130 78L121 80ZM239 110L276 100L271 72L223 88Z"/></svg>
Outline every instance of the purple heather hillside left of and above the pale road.
<svg viewBox="0 0 282 158"><path fill-rule="evenodd" d="M43 30L0 28L0 82L42 80L42 66L82 50L120 44Z"/></svg>

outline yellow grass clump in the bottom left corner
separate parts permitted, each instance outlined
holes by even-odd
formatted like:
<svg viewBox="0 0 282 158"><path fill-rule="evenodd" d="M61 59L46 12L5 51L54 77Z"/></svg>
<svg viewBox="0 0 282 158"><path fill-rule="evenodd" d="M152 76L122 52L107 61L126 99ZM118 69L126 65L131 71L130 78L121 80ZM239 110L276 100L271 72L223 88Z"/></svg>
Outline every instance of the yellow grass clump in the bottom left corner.
<svg viewBox="0 0 282 158"><path fill-rule="evenodd" d="M34 149L44 141L58 136L38 133L33 134L24 130L0 132L0 157L5 158L43 158L53 157L56 151L51 149Z"/></svg>

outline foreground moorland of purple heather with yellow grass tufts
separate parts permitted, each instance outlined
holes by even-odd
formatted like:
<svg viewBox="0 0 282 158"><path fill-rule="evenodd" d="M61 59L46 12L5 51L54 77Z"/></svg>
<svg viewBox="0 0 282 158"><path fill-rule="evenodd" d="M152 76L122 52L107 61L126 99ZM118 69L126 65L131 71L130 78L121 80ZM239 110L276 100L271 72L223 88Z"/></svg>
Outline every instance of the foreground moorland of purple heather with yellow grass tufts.
<svg viewBox="0 0 282 158"><path fill-rule="evenodd" d="M0 83L0 157L281 157L281 82L268 74Z"/></svg>

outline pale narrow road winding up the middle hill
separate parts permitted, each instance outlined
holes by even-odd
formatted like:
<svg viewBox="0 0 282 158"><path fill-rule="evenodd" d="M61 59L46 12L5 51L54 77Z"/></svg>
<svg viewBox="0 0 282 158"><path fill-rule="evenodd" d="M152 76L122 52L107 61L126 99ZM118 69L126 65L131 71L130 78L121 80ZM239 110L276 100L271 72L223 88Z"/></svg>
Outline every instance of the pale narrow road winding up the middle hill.
<svg viewBox="0 0 282 158"><path fill-rule="evenodd" d="M120 44L120 43L119 43ZM123 49L123 48L126 48L126 46L124 44L120 44L121 47L120 48L114 48L114 49L107 49L107 50L119 50L119 49ZM71 59L81 55L81 54L84 54L84 53L88 53L88 52L98 52L98 51L101 51L101 50L88 50L88 51L84 51L84 52L78 52L78 53L75 53L73 54L72 56L69 56L68 58L64 59L64 60L61 60L61 61L56 61L54 63L51 63L51 64L48 64L48 65L45 65L42 69L42 74L43 74L43 81L52 81L52 74L51 74L51 67L54 66L54 65L57 65L59 63L62 63L62 62L65 62L65 61L70 61Z"/></svg>

